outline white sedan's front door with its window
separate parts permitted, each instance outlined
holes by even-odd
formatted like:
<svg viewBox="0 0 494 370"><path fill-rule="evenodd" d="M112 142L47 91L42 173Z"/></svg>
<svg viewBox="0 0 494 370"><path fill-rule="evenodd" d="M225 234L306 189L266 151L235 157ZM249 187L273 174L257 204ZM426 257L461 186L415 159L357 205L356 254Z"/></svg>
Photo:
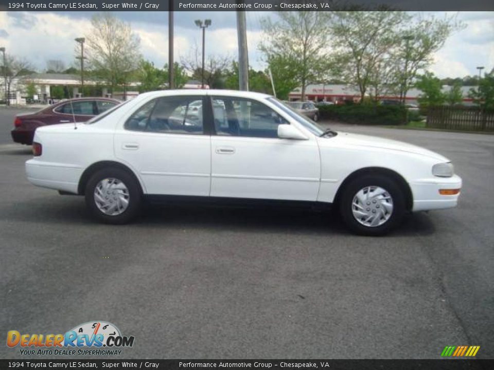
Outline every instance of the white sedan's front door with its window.
<svg viewBox="0 0 494 370"><path fill-rule="evenodd" d="M211 103L211 196L316 200L320 160L314 138L278 138L278 125L289 122L264 102L213 96Z"/></svg>

